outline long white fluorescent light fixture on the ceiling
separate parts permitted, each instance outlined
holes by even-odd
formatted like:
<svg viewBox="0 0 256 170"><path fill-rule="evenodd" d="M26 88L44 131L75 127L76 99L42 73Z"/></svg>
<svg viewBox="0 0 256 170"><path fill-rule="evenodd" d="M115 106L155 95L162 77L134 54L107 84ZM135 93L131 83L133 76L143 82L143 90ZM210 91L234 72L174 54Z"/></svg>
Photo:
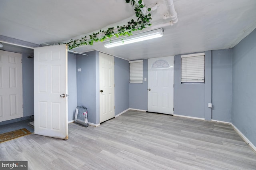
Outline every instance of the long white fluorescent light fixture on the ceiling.
<svg viewBox="0 0 256 170"><path fill-rule="evenodd" d="M129 43L141 42L144 40L150 40L153 38L162 37L163 35L164 35L163 29L160 28L157 30L143 32L141 34L136 34L134 36L128 36L128 37L124 38L124 40L120 40L120 39L114 40L111 43L106 43L104 46L106 48L116 47L119 45L125 45L125 44L129 44Z"/></svg>

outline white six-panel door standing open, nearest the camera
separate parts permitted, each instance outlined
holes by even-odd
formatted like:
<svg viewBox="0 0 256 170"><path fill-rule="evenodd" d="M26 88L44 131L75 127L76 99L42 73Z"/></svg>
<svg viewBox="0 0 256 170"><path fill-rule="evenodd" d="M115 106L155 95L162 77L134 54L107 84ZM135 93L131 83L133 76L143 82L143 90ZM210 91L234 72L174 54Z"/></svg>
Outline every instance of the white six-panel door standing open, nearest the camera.
<svg viewBox="0 0 256 170"><path fill-rule="evenodd" d="M35 134L68 139L67 47L34 48Z"/></svg>

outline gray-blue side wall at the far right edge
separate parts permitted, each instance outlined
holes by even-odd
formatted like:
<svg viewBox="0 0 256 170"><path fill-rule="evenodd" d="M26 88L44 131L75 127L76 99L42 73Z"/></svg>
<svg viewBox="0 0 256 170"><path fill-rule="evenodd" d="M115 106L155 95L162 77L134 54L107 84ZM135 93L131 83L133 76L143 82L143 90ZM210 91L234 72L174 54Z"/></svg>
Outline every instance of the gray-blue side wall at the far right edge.
<svg viewBox="0 0 256 170"><path fill-rule="evenodd" d="M233 48L232 123L256 146L256 30Z"/></svg>

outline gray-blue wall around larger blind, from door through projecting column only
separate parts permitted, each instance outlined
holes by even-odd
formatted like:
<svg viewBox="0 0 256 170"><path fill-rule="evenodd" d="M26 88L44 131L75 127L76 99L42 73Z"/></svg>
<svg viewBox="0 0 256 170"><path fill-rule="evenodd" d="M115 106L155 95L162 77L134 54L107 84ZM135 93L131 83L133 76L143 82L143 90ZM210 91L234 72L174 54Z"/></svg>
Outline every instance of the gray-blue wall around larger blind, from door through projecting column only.
<svg viewBox="0 0 256 170"><path fill-rule="evenodd" d="M204 118L210 121L211 51L205 52L205 83L181 83L181 58L174 56L174 114Z"/></svg>

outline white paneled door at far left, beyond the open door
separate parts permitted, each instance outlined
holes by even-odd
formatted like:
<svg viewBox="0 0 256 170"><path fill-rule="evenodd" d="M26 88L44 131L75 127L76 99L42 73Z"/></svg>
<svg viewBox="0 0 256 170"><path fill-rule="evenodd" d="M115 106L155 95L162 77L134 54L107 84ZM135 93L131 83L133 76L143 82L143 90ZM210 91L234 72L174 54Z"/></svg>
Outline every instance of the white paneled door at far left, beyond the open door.
<svg viewBox="0 0 256 170"><path fill-rule="evenodd" d="M0 122L23 116L22 55L0 50Z"/></svg>

